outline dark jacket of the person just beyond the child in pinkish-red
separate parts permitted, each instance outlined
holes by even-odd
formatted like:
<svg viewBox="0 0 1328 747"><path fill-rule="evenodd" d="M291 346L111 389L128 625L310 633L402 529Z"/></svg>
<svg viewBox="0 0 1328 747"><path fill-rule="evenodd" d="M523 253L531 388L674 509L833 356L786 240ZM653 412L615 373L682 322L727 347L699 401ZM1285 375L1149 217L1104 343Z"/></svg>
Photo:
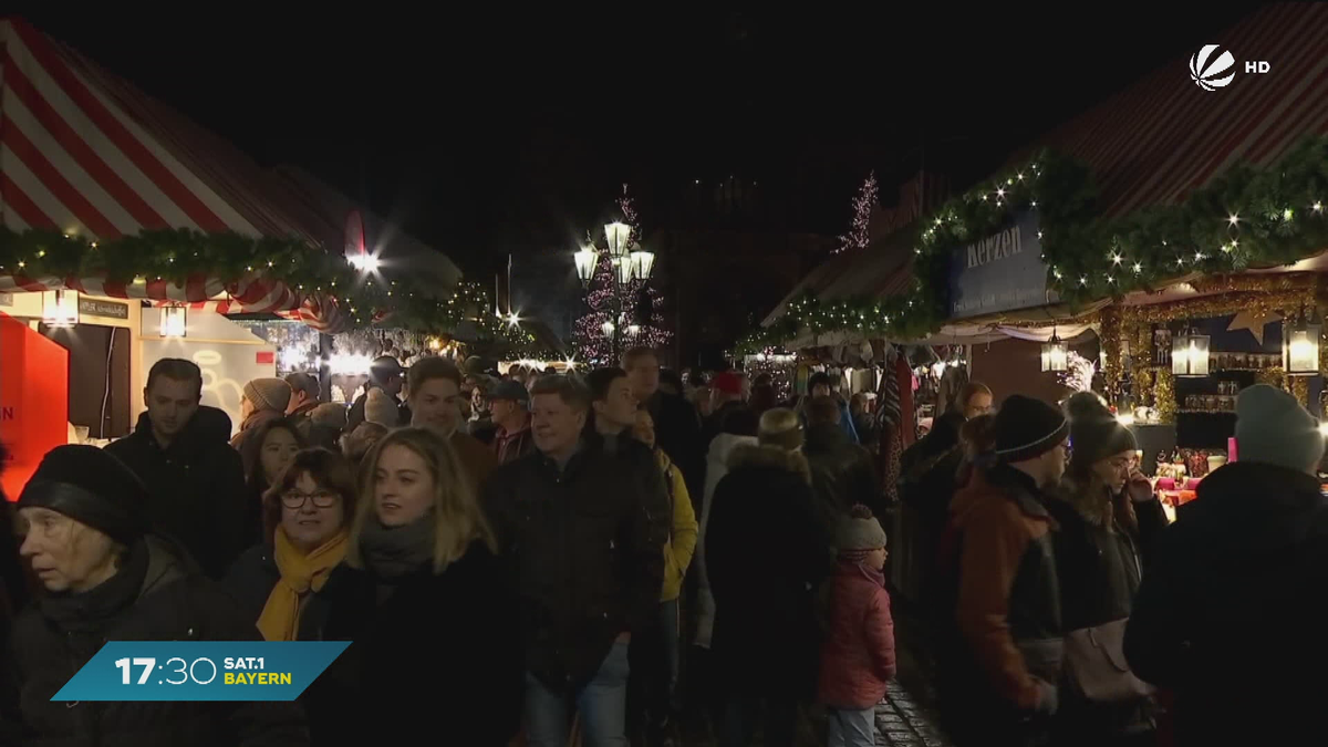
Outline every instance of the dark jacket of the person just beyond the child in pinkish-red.
<svg viewBox="0 0 1328 747"><path fill-rule="evenodd" d="M811 489L826 526L835 526L854 504L862 504L878 516L884 512L880 486L871 471L871 455L850 441L838 425L807 428L802 453L811 465Z"/></svg>

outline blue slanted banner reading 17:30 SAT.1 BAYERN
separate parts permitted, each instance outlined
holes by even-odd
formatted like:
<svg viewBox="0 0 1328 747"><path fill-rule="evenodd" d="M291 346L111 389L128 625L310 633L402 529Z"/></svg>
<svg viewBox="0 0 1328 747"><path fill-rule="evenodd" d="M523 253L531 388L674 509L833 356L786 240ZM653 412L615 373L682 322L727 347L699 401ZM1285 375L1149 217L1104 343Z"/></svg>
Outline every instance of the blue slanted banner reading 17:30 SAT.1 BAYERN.
<svg viewBox="0 0 1328 747"><path fill-rule="evenodd" d="M348 641L112 641L52 700L293 700Z"/></svg>

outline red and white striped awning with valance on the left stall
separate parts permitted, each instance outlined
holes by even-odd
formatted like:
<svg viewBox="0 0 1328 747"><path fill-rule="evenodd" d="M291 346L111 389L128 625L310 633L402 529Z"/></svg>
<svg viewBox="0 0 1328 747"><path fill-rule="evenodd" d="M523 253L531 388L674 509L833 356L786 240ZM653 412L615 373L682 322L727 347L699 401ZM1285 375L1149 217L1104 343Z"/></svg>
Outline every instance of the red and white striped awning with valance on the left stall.
<svg viewBox="0 0 1328 747"><path fill-rule="evenodd" d="M222 138L125 80L17 20L0 20L0 223L114 239L153 229L296 238L339 226L309 225L262 167ZM307 211L305 211L307 213ZM301 215L300 219L292 215ZM340 247L336 247L340 250ZM0 275L0 291L68 287L222 312L270 312L336 330L331 298L295 292L260 275L235 282L190 278L110 283L97 278Z"/></svg>

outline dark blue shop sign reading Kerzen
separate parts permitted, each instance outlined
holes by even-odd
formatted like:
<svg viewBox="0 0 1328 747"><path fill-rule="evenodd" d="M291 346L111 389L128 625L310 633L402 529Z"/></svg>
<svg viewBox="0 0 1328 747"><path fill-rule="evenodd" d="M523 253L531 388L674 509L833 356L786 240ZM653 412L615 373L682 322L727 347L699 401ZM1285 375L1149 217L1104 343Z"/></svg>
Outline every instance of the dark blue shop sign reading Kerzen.
<svg viewBox="0 0 1328 747"><path fill-rule="evenodd" d="M1056 303L1036 213L1020 213L1000 231L961 246L950 258L950 318L979 316Z"/></svg>

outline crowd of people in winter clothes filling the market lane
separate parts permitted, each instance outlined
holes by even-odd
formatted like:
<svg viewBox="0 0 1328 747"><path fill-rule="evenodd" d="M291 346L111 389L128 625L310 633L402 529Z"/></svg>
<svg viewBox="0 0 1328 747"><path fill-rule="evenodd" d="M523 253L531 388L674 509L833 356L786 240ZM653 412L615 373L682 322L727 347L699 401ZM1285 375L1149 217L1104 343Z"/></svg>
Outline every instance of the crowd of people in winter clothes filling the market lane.
<svg viewBox="0 0 1328 747"><path fill-rule="evenodd" d="M351 407L258 379L232 439L198 367L158 362L131 435L50 451L16 514L0 501L21 537L0 546L0 746L653 747L684 718L724 747L875 744L892 506L863 403L825 375L781 403L645 348L620 364L381 358ZM948 734L1309 734L1315 419L1248 388L1240 460L1169 528L1097 395L993 404L971 383L902 457ZM353 643L292 703L52 702L106 641L189 639Z"/></svg>

